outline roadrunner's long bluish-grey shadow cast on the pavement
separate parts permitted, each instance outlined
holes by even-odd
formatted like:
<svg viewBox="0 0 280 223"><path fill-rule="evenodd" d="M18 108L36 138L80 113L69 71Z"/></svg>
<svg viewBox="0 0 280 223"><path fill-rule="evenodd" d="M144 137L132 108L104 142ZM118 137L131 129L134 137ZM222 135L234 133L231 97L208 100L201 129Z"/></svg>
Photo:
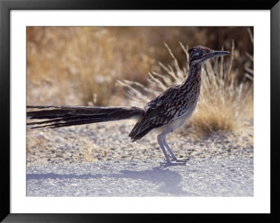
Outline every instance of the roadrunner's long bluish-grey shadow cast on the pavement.
<svg viewBox="0 0 280 223"><path fill-rule="evenodd" d="M27 173L27 181L36 179L99 179L99 178L129 178L132 180L148 180L152 182L155 189L168 196L195 196L192 192L187 192L181 187L182 176L176 170L169 170L162 166L154 167L145 171L121 170L119 173L98 173L98 174L57 174L57 173ZM123 194L125 196L125 194ZM148 195L147 195L148 196Z"/></svg>

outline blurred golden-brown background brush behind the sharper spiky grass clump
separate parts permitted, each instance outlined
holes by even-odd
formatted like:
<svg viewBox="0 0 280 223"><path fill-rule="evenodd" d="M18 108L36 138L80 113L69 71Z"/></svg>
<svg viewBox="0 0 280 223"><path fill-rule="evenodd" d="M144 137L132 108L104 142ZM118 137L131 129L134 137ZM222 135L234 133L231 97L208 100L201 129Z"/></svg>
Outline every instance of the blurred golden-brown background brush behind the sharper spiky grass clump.
<svg viewBox="0 0 280 223"><path fill-rule="evenodd" d="M251 32L253 32L253 29ZM253 70L247 27L27 27L27 104L117 106L127 103L116 80L147 85L148 72L186 66L180 42L231 50L238 79Z"/></svg>

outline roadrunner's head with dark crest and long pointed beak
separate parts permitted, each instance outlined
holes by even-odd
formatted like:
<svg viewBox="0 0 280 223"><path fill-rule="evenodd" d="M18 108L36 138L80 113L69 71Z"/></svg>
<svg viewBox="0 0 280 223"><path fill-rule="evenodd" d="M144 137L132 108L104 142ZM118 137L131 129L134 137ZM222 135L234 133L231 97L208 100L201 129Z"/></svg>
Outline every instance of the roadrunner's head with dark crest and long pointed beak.
<svg viewBox="0 0 280 223"><path fill-rule="evenodd" d="M230 55L230 52L211 50L203 45L197 45L193 48L190 48L190 50L188 50L188 55L189 55L190 66L192 66L192 65L203 65L211 58Z"/></svg>

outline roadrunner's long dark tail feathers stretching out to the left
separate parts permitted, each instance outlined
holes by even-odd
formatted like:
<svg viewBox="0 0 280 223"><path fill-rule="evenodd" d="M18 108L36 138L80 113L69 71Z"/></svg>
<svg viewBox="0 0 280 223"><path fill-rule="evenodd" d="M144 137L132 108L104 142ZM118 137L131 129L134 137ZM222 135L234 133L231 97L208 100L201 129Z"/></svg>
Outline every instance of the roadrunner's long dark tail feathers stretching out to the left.
<svg viewBox="0 0 280 223"><path fill-rule="evenodd" d="M27 122L29 129L69 127L94 122L108 122L136 118L144 115L143 108L98 107L98 106L27 106L27 119L41 120Z"/></svg>

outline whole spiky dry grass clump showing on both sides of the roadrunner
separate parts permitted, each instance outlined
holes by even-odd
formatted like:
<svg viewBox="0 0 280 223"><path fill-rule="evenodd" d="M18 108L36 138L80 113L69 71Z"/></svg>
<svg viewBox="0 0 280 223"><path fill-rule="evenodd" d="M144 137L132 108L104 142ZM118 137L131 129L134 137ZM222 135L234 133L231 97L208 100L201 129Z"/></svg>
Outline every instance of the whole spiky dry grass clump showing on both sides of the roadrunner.
<svg viewBox="0 0 280 223"><path fill-rule="evenodd" d="M188 64L188 47L181 44L186 53ZM180 69L179 63L168 48L173 59L173 66L162 66L165 73L149 73L149 87L129 80L119 81L127 87L131 105L140 106L153 99L172 85L181 83L188 75L188 66ZM188 133L205 136L214 132L235 132L249 134L253 138L253 128L248 121L253 118L253 78L238 81L236 71L232 71L235 48L232 42L231 57L208 62L202 70L202 89L197 103L197 111L190 119ZM251 57L253 58L253 57ZM247 74L248 75L248 74ZM143 90L144 89L144 90ZM246 130L246 131L245 131Z"/></svg>

